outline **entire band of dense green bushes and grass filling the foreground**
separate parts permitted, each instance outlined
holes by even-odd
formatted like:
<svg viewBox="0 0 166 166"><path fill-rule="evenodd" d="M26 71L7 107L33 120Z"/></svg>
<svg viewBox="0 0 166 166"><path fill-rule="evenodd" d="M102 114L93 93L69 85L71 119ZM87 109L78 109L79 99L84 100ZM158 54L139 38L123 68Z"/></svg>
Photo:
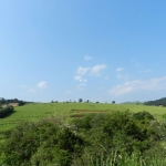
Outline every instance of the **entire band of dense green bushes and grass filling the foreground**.
<svg viewBox="0 0 166 166"><path fill-rule="evenodd" d="M0 165L166 165L166 123L147 112L89 114L25 122L6 132Z"/></svg>

